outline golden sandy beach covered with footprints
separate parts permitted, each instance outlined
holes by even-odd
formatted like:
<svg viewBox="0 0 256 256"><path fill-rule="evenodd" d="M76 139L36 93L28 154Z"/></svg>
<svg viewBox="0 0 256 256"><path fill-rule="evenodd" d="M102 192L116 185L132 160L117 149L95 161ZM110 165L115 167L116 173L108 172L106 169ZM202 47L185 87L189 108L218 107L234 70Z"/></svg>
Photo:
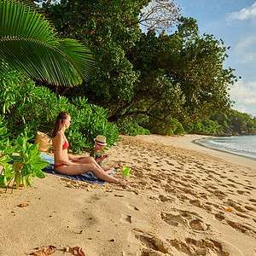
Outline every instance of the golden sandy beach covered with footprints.
<svg viewBox="0 0 256 256"><path fill-rule="evenodd" d="M47 174L0 188L0 255L255 256L256 161L192 143L200 137L122 136L105 165L128 187Z"/></svg>

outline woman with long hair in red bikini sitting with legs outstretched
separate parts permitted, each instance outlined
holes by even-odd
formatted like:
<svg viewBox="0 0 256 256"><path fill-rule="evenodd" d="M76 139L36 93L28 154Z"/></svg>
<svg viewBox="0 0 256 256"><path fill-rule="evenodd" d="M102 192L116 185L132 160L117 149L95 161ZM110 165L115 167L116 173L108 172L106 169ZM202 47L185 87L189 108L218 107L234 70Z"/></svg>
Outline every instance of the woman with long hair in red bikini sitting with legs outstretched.
<svg viewBox="0 0 256 256"><path fill-rule="evenodd" d="M70 114L67 112L59 113L55 120L55 126L52 132L52 144L54 147L55 158L54 170L67 175L78 175L84 172L93 172L96 177L109 183L128 185L128 183L109 176L108 173L104 172L102 167L99 166L96 163L96 160L92 157L73 158L67 154L69 143L67 142L67 138L64 133L71 122Z"/></svg>

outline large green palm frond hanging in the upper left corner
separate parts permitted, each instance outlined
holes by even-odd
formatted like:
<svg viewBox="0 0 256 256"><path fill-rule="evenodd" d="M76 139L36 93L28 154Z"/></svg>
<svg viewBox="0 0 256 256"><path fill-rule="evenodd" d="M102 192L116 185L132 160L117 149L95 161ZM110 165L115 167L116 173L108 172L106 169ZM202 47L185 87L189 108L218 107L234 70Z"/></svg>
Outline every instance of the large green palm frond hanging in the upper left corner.
<svg viewBox="0 0 256 256"><path fill-rule="evenodd" d="M0 0L0 56L27 78L73 86L88 79L90 51L54 27L28 1ZM47 56L47 57L46 57Z"/></svg>

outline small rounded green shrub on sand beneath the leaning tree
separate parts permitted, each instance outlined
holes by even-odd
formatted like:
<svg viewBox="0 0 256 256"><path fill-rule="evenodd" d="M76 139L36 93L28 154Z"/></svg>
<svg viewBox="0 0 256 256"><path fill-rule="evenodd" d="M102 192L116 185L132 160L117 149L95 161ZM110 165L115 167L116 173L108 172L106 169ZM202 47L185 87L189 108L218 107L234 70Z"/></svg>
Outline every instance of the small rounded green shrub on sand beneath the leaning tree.
<svg viewBox="0 0 256 256"><path fill-rule="evenodd" d="M130 135L130 136L137 136L138 134L146 134L150 135L148 129L143 128L142 126L138 125L136 119L127 118L122 119L118 123L118 129L120 134Z"/></svg>

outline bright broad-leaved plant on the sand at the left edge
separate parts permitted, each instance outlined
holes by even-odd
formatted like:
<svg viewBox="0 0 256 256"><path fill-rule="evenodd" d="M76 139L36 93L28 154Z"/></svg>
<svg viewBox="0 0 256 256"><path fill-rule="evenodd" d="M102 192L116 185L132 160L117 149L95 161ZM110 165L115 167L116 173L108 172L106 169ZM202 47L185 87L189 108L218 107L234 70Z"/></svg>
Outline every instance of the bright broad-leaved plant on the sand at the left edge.
<svg viewBox="0 0 256 256"><path fill-rule="evenodd" d="M3 116L1 116L3 119ZM3 125L3 124L2 124ZM49 166L49 162L40 157L38 143L31 144L27 142L26 137L17 137L9 141L7 137L7 128L0 128L0 165L3 171L0 175L0 185L8 186L15 179L16 189L20 183L26 188L32 187L33 177L45 177L41 170ZM15 160L13 164L9 162Z"/></svg>

